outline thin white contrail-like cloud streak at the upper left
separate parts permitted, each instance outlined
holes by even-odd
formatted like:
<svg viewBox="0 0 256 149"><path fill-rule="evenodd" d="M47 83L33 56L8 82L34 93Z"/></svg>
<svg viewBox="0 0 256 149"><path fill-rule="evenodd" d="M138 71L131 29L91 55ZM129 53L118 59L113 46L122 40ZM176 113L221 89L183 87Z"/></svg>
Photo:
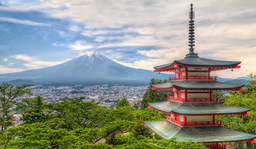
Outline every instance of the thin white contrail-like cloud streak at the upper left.
<svg viewBox="0 0 256 149"><path fill-rule="evenodd" d="M31 25L31 26L51 26L51 24L38 23L38 22L29 21L29 20L13 19L13 18L8 18L8 17L0 17L0 21L24 24L24 25Z"/></svg>

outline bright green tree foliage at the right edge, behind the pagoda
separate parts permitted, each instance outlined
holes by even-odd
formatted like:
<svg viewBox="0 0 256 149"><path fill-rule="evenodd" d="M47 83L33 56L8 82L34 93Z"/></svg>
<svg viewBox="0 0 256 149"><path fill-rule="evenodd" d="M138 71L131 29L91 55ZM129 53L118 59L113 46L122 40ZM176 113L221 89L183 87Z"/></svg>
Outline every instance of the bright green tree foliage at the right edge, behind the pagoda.
<svg viewBox="0 0 256 149"><path fill-rule="evenodd" d="M256 74L247 76L249 85L246 85L244 92L229 92L224 96L224 104L240 108L250 108L251 115L223 115L216 116L216 119L223 121L222 126L245 133L256 134ZM252 143L252 142L251 142ZM255 143L252 143L255 148Z"/></svg>

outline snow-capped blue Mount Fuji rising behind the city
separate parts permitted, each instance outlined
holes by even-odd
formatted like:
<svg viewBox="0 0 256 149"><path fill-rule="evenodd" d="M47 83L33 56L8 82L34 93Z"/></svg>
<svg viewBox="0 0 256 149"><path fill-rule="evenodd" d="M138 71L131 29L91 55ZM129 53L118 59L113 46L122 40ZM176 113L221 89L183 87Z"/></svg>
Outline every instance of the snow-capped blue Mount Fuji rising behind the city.
<svg viewBox="0 0 256 149"><path fill-rule="evenodd" d="M116 63L96 51L88 51L55 66L0 74L0 82L26 79L36 83L71 84L149 84L151 78L168 79L174 75L160 75L153 71L135 69Z"/></svg>

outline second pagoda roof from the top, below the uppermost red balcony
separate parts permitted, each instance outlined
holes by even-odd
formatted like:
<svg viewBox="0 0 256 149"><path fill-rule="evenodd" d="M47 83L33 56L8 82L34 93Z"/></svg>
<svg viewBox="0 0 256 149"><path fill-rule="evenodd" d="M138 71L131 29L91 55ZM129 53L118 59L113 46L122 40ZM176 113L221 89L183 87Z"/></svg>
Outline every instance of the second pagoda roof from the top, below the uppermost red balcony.
<svg viewBox="0 0 256 149"><path fill-rule="evenodd" d="M235 90L243 87L243 84L232 84L218 81L176 81L162 84L152 84L155 90L171 90L173 88L191 90Z"/></svg>

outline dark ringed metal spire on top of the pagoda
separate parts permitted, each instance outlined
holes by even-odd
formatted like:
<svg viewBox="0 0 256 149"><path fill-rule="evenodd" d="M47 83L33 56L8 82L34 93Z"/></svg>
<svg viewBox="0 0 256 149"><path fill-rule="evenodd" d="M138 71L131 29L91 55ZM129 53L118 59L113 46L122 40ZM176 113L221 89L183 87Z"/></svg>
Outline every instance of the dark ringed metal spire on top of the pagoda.
<svg viewBox="0 0 256 149"><path fill-rule="evenodd" d="M195 29L194 29L195 26L194 25L195 24L194 24L194 20L193 20L193 19L195 19L195 12L193 11L193 4L192 3L190 4L190 6L191 6L191 8L190 8L191 11L189 11L189 13L188 13L188 18L190 19L189 20L189 27L188 27L189 28L189 30L188 30L189 31L188 40L190 40L190 41L188 41L188 43L189 43L188 46L190 46L190 48L188 48L188 49L189 49L190 52L188 54L186 54L185 58L187 58L187 57L199 57L198 54L194 52L195 48L193 48L193 46L195 46L195 44L194 44L195 43L195 41L194 41L195 40L195 38L194 38L195 37L195 35L194 35L195 34L195 32L194 32L195 31Z"/></svg>

